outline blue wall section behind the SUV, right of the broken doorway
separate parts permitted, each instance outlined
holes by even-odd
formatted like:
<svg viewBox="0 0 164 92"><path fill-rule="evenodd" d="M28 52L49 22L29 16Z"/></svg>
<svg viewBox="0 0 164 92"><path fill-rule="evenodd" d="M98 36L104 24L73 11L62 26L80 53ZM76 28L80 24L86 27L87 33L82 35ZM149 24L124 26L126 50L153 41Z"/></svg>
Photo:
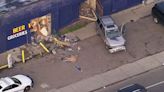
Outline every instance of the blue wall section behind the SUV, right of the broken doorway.
<svg viewBox="0 0 164 92"><path fill-rule="evenodd" d="M99 15L112 13L141 4L143 0L97 0L96 10Z"/></svg>

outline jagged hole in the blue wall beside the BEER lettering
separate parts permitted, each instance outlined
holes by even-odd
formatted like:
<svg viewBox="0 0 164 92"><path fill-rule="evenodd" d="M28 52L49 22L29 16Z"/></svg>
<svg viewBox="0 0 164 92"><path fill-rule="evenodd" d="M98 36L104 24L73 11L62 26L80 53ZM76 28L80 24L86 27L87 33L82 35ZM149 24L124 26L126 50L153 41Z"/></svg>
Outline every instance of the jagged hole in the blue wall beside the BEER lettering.
<svg viewBox="0 0 164 92"><path fill-rule="evenodd" d="M29 28L35 39L45 39L51 34L51 14L32 19Z"/></svg>

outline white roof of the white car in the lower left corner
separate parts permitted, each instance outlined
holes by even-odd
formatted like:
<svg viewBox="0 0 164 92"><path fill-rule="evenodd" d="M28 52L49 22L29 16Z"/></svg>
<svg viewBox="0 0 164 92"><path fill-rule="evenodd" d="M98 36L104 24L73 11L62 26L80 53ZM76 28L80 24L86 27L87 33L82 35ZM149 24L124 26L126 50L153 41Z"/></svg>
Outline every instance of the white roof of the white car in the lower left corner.
<svg viewBox="0 0 164 92"><path fill-rule="evenodd" d="M2 88L7 87L8 85L11 85L11 84L14 84L14 81L9 77L0 79L0 86L2 86Z"/></svg>

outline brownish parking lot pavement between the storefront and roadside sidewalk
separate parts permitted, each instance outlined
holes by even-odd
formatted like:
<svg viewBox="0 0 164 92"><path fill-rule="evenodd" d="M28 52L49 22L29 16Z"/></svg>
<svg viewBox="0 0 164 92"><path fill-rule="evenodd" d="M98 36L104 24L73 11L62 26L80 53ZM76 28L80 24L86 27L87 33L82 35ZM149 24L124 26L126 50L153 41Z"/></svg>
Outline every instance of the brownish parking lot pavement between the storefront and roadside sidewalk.
<svg viewBox="0 0 164 92"><path fill-rule="evenodd" d="M81 51L76 63L57 61L54 55L47 55L0 71L0 76L30 75L35 83L31 92L46 92L164 50L164 26L155 24L152 17L128 23L126 28L126 52L110 54L100 37L94 36L79 43Z"/></svg>

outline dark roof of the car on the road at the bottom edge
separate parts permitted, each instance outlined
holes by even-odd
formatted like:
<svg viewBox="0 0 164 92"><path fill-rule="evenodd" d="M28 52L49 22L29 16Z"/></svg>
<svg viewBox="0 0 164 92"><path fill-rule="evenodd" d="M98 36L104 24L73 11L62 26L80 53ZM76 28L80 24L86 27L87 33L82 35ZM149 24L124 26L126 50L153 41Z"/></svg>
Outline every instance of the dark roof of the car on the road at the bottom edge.
<svg viewBox="0 0 164 92"><path fill-rule="evenodd" d="M132 84L119 89L118 92L134 92L137 89L145 89L145 88L139 84Z"/></svg>

